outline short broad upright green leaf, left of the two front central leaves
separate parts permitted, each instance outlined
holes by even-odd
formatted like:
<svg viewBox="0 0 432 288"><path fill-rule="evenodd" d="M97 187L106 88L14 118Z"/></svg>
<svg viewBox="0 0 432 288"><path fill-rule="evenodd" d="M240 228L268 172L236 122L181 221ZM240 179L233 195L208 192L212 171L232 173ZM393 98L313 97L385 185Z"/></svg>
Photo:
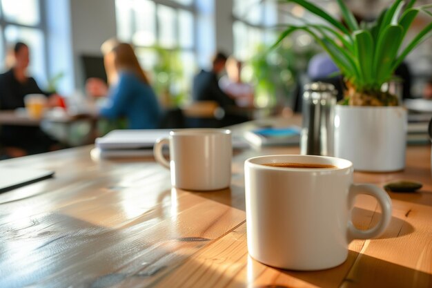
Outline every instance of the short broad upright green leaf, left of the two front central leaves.
<svg viewBox="0 0 432 288"><path fill-rule="evenodd" d="M360 70L364 83L371 84L375 77L373 70L373 39L371 32L368 30L359 30L354 32L355 57L359 61Z"/></svg>

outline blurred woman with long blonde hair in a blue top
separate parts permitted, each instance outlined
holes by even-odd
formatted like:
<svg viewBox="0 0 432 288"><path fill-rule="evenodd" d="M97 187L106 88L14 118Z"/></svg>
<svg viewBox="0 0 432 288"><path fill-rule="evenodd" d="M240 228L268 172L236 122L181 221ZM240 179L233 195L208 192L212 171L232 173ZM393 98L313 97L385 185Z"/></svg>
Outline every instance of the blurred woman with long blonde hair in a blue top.
<svg viewBox="0 0 432 288"><path fill-rule="evenodd" d="M161 107L132 46L110 39L101 50L109 88L102 79L90 78L86 83L89 95L107 97L97 113L108 119L126 117L130 129L158 128Z"/></svg>

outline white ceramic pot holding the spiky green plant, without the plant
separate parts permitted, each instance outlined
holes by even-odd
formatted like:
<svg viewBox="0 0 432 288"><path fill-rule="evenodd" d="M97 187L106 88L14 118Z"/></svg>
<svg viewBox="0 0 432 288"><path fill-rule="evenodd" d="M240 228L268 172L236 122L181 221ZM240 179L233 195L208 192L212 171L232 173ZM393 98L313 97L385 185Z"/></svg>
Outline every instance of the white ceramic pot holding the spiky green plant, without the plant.
<svg viewBox="0 0 432 288"><path fill-rule="evenodd" d="M405 167L406 109L400 106L335 108L335 156L358 171L389 172Z"/></svg>

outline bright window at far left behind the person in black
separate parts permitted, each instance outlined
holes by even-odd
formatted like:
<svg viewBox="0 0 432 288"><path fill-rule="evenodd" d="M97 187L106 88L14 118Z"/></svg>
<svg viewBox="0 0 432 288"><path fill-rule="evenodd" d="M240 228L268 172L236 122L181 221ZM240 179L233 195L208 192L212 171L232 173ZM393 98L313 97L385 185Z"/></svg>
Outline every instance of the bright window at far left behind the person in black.
<svg viewBox="0 0 432 288"><path fill-rule="evenodd" d="M8 46L23 41L30 48L29 73L39 84L46 83L45 35L39 0L0 1L0 66L6 70Z"/></svg>

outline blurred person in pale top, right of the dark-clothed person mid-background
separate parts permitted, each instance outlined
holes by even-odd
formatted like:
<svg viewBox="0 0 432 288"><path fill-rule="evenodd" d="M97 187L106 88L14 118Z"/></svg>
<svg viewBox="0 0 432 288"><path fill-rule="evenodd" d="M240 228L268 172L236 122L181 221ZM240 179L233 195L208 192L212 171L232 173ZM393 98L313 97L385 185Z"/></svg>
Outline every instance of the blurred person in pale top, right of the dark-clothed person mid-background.
<svg viewBox="0 0 432 288"><path fill-rule="evenodd" d="M242 81L242 66L242 61L229 57L226 60L226 73L228 76L224 76L219 80L219 86L225 93L234 97L237 106L252 107L254 91L251 84Z"/></svg>

